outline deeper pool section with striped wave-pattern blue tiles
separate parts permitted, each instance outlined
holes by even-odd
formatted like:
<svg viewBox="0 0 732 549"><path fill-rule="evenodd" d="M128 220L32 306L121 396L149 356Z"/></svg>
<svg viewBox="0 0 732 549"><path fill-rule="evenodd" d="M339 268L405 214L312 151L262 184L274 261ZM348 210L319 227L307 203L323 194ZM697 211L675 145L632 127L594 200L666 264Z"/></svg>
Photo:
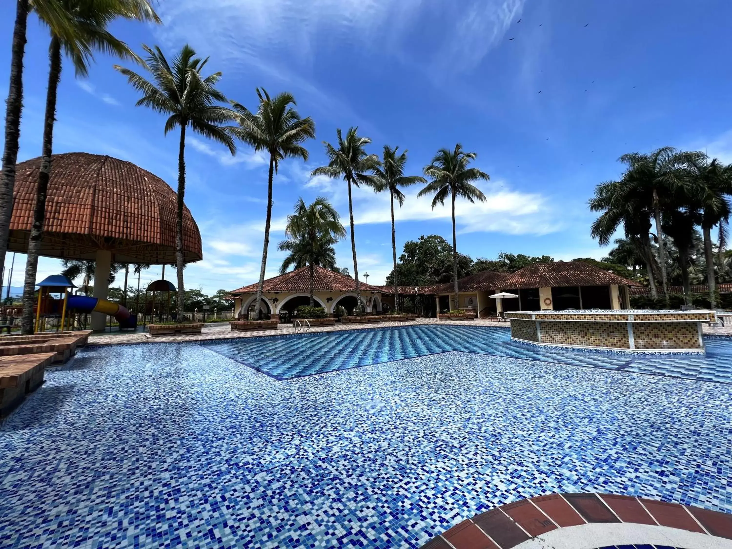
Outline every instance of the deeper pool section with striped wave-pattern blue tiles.
<svg viewBox="0 0 732 549"><path fill-rule="evenodd" d="M706 337L705 343L706 354L571 351L512 342L507 329L448 325L247 337L202 345L276 379L463 351L732 383L732 337Z"/></svg>

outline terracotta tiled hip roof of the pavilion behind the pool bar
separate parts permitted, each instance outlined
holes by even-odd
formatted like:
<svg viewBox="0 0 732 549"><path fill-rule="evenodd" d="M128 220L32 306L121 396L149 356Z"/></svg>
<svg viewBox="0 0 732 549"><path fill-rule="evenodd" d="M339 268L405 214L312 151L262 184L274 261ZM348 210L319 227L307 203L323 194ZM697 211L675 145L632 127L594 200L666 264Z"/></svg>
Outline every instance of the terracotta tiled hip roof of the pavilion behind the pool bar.
<svg viewBox="0 0 732 549"><path fill-rule="evenodd" d="M537 263L526 266L507 276L503 280L502 286L504 289L520 290L521 288L609 284L639 285L584 261L557 261L556 263Z"/></svg>

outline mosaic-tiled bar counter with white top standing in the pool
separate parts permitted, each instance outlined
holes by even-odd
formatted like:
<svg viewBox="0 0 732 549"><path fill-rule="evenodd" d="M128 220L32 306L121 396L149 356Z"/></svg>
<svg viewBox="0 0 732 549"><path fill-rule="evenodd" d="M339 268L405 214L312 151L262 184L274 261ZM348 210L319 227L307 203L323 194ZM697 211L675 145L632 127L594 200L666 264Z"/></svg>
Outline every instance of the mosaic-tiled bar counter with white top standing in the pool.
<svg viewBox="0 0 732 549"><path fill-rule="evenodd" d="M563 310L506 313L513 340L612 351L704 352L710 310Z"/></svg>

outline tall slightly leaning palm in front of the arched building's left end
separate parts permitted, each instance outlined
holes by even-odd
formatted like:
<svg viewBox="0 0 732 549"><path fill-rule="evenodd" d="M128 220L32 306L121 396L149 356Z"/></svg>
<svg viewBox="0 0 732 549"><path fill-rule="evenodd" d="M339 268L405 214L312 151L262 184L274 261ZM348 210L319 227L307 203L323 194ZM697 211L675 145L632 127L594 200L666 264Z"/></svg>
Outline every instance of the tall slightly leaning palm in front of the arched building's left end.
<svg viewBox="0 0 732 549"><path fill-rule="evenodd" d="M269 248L269 228L272 223L272 180L280 167L280 160L285 158L302 158L307 162L307 149L301 143L315 138L315 122L308 116L301 119L293 108L297 103L293 95L287 91L278 94L274 99L266 90L257 88L259 107L256 113L250 112L237 102L232 102L236 111L239 127L229 127L231 135L254 147L255 151L269 152L269 176L267 179L267 214L264 222L264 250L259 270L257 285L257 304L254 315L259 318L262 305L262 286L264 271L267 265L267 249Z"/></svg>

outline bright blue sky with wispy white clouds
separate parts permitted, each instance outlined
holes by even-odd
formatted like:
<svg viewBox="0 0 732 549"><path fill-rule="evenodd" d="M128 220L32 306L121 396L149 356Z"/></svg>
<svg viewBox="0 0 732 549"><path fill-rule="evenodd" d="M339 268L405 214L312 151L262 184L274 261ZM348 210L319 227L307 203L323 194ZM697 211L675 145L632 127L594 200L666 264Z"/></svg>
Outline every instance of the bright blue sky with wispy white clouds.
<svg viewBox="0 0 732 549"><path fill-rule="evenodd" d="M2 97L14 7L0 4ZM223 72L231 99L254 109L256 86L288 90L315 120L308 163L285 162L275 178L268 276L282 261L276 245L299 196L326 195L347 224L345 184L309 177L337 127L359 126L374 153L384 143L408 149L414 174L441 147L460 142L477 152L490 174L480 185L488 203L458 206L458 250L474 258L600 258L606 250L589 237L586 201L595 184L619 175L624 152L671 145L732 162L727 1L161 0L158 11L163 26L121 22L112 31L137 51L157 44L169 56L189 42ZM47 48L47 31L31 17L19 160L40 154ZM97 56L86 80L64 70L54 151L110 154L175 186L178 136L165 137L163 117L134 106L138 94L115 62ZM186 269L187 286L213 292L254 282L266 159L243 145L231 157L190 137L187 170L204 252ZM421 234L450 236L449 207L430 209L417 190L397 212L397 252ZM354 216L359 272L383 283L392 265L388 196L356 190ZM337 259L352 269L349 240ZM24 263L16 260L15 285ZM58 270L44 259L39 278ZM143 280L159 275L157 267Z"/></svg>

